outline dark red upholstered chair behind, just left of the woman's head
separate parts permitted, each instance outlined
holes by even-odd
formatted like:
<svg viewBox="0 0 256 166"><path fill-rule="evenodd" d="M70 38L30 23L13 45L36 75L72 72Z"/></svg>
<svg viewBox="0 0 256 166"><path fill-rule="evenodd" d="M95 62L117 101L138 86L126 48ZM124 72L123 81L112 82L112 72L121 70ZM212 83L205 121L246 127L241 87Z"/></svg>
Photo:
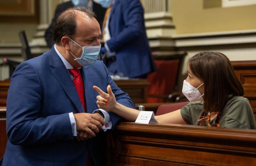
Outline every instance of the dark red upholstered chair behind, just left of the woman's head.
<svg viewBox="0 0 256 166"><path fill-rule="evenodd" d="M155 54L154 54L155 53ZM183 77L181 69L186 52L174 52L169 55L157 55L152 52L157 71L148 75L148 103L175 102L179 96L179 77Z"/></svg>

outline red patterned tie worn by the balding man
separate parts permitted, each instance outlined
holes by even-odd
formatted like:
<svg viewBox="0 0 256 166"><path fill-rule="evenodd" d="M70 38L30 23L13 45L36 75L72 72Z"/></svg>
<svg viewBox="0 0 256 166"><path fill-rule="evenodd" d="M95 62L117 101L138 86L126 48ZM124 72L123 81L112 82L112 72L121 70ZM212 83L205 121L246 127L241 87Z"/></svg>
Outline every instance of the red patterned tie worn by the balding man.
<svg viewBox="0 0 256 166"><path fill-rule="evenodd" d="M76 91L78 93L78 96L81 100L81 103L84 107L84 111L85 111L85 105L84 105L84 83L83 83L83 79L82 76L80 74L80 69L68 69L70 71L70 73L73 76L73 83L76 87ZM85 111L86 112L86 111Z"/></svg>

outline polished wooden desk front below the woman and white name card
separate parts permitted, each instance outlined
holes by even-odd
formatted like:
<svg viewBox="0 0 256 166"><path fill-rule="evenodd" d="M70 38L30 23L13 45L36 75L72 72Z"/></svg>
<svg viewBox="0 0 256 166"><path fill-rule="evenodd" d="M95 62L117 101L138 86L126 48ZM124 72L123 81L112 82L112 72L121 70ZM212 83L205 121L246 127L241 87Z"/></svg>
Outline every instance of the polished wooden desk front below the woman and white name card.
<svg viewBox="0 0 256 166"><path fill-rule="evenodd" d="M107 138L108 166L256 164L256 130L122 122Z"/></svg>

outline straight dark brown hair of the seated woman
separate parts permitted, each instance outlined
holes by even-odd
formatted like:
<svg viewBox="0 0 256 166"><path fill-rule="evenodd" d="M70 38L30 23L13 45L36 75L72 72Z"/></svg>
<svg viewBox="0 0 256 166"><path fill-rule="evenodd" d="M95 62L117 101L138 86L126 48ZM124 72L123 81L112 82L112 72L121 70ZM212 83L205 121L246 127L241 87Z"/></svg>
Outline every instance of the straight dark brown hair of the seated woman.
<svg viewBox="0 0 256 166"><path fill-rule="evenodd" d="M244 95L244 89L226 55L198 53L189 59L188 65L191 72L204 82L205 112L221 113L228 102L228 95Z"/></svg>

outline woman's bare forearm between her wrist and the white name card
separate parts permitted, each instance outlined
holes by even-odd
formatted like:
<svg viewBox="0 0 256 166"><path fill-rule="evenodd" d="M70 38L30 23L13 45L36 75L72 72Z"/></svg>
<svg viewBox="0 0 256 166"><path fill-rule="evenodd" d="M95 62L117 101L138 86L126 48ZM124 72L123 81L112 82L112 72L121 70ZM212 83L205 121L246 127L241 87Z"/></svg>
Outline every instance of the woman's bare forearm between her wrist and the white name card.
<svg viewBox="0 0 256 166"><path fill-rule="evenodd" d="M135 110L135 109L126 107L119 103L116 103L115 107L112 109L112 112L114 112L115 114L123 117L124 119L126 119L128 121L132 121L132 122L134 122L137 119L137 117L140 113L139 110Z"/></svg>

